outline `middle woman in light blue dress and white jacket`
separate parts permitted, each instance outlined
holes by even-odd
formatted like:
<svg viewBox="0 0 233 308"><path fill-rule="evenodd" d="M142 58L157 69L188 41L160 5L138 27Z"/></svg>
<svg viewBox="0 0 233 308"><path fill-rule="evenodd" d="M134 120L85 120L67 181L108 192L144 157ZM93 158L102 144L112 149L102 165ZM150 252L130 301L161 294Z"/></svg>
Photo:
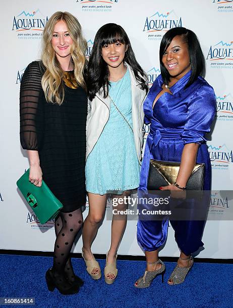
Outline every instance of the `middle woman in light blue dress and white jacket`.
<svg viewBox="0 0 233 308"><path fill-rule="evenodd" d="M127 203L120 199L139 186L143 145L143 101L146 74L138 64L129 38L116 24L102 26L95 37L88 64L86 190L89 213L83 227L83 258L93 279L101 277L91 244L102 220L107 194L114 211L111 244L106 256L105 282L114 282L116 252L126 228ZM125 199L126 200L126 199Z"/></svg>

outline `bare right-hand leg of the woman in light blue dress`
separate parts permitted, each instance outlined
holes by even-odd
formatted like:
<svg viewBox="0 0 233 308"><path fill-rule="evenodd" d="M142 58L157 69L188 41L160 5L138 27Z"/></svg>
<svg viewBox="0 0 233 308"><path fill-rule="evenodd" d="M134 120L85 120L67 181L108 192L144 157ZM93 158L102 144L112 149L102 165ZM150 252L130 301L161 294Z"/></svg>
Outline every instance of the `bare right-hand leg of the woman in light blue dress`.
<svg viewBox="0 0 233 308"><path fill-rule="evenodd" d="M113 195L112 199L122 199L127 197L129 193L125 191L122 195ZM127 209L126 203L117 204L116 206L112 207L112 209L124 211ZM118 251L118 247L124 235L125 229L127 224L127 214L113 214L112 222L111 222L111 245L107 255L107 262L109 264L114 262L114 258L116 256L116 252ZM106 275L107 278L113 279L115 276L112 273L108 273Z"/></svg>

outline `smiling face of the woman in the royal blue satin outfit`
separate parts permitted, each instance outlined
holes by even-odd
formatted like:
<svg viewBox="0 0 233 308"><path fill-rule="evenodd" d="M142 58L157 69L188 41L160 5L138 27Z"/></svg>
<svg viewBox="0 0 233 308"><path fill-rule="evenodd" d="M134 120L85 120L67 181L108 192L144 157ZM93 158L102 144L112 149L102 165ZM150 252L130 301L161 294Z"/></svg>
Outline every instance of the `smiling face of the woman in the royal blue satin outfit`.
<svg viewBox="0 0 233 308"><path fill-rule="evenodd" d="M162 63L168 70L171 78L180 80L190 70L190 56L188 45L181 35L175 36L164 51Z"/></svg>

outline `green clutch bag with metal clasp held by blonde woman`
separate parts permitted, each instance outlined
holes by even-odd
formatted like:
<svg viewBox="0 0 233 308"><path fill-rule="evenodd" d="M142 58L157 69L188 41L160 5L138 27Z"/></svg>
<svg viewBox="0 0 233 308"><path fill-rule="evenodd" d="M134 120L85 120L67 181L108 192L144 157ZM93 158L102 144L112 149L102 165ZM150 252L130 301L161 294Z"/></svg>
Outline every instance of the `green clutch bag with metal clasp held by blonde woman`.
<svg viewBox="0 0 233 308"><path fill-rule="evenodd" d="M42 181L41 187L37 187L29 182L29 171L30 169L22 175L16 184L40 223L45 223L54 219L59 214L63 205L53 195L44 181Z"/></svg>

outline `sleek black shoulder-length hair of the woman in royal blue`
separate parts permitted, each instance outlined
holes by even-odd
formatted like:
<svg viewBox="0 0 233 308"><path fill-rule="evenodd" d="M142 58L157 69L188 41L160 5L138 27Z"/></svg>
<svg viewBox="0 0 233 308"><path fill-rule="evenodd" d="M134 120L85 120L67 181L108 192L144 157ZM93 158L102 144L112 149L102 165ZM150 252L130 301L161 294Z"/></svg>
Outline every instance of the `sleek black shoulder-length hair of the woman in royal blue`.
<svg viewBox="0 0 233 308"><path fill-rule="evenodd" d="M170 74L162 63L162 56L163 53L166 51L167 47L170 45L172 39L177 35L181 35L183 42L188 45L190 63L192 66L192 73L190 75L190 79L185 86L185 88L188 88L205 70L205 58L201 50L200 43L196 34L189 29L177 27L170 29L164 34L159 49L161 75L164 84L168 85L170 81Z"/></svg>

